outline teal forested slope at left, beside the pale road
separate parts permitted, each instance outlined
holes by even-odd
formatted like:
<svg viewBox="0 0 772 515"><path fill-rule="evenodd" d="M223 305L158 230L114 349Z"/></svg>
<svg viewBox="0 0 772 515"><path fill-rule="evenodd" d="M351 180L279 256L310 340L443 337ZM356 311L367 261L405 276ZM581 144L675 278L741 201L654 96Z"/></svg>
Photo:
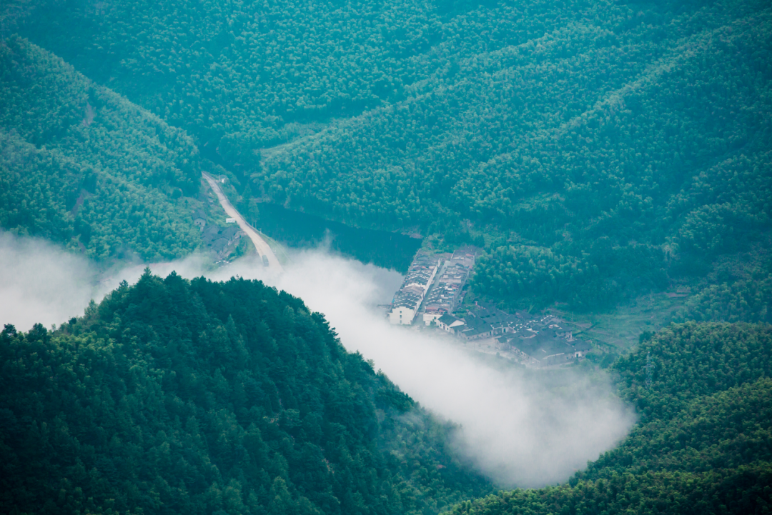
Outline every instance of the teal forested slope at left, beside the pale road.
<svg viewBox="0 0 772 515"><path fill-rule="evenodd" d="M24 39L0 42L0 227L90 257L198 246L198 150L181 130Z"/></svg>

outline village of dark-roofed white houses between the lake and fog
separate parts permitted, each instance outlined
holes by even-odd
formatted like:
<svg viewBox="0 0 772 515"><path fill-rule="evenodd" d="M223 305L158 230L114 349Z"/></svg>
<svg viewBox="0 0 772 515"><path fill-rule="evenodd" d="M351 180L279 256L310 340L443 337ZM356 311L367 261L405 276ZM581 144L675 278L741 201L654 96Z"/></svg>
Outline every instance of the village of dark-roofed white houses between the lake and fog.
<svg viewBox="0 0 772 515"><path fill-rule="evenodd" d="M574 338L572 325L557 316L535 317L527 311L512 314L481 301L464 305L466 283L477 254L475 247L461 247L452 253L418 251L391 301L387 315L391 324L434 328L479 352L529 367L584 359L592 346Z"/></svg>

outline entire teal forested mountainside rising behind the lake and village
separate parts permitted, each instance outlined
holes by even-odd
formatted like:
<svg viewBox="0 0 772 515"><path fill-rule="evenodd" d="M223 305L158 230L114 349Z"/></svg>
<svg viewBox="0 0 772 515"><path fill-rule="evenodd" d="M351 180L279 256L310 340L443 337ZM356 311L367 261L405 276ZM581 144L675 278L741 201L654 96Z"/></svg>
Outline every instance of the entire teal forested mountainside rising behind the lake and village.
<svg viewBox="0 0 772 515"><path fill-rule="evenodd" d="M474 288L504 304L604 308L768 244L768 2L8 12L6 30L216 147L249 217L270 200L480 244Z"/></svg>

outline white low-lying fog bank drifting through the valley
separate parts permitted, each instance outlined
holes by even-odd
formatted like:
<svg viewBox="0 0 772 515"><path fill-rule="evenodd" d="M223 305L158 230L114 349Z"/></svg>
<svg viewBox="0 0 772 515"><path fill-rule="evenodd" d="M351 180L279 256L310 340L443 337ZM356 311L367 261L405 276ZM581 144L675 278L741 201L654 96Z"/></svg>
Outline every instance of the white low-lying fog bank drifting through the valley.
<svg viewBox="0 0 772 515"><path fill-rule="evenodd" d="M8 234L0 234L0 262L0 324L23 331L82 315L91 298L100 301L121 280L136 281L145 266L110 271L100 282L84 258ZM447 335L389 325L376 305L388 304L401 284L393 271L321 249L295 254L279 276L249 258L213 271L200 257L150 266L162 276L175 270L188 278L260 278L303 298L327 316L348 350L374 360L422 406L462 426L459 452L500 486L565 481L614 447L635 420L598 375L493 367Z"/></svg>

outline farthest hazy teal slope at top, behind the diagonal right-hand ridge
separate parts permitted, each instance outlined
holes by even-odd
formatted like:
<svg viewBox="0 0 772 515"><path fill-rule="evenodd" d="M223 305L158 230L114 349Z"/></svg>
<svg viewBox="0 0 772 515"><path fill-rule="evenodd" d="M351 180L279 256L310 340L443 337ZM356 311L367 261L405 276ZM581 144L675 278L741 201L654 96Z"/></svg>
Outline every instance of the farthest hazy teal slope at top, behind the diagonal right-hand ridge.
<svg viewBox="0 0 772 515"><path fill-rule="evenodd" d="M405 87L447 65L432 52L442 42L460 38L480 51L594 12L591 2L540 1L499 17L470 2L457 21L452 2L414 0L22 3L36 9L15 29L202 140L225 136L223 153L235 162L294 139L290 124L405 98Z"/></svg>

